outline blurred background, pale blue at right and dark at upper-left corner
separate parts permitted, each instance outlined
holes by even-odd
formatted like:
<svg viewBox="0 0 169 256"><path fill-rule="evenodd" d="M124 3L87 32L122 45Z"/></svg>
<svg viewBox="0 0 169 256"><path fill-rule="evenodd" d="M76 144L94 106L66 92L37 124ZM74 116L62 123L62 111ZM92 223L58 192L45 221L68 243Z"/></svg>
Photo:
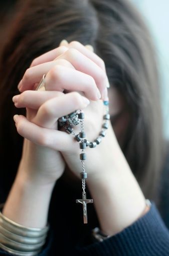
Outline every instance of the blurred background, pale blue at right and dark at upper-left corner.
<svg viewBox="0 0 169 256"><path fill-rule="evenodd" d="M169 139L169 33L167 30L167 25L169 24L169 0L130 1L133 2L142 13L154 40L161 84L164 135ZM17 2L17 0L0 2L0 56L1 49L7 37L8 26L14 15L19 12L19 6L16 5ZM25 1L23 1L23 3L24 2Z"/></svg>

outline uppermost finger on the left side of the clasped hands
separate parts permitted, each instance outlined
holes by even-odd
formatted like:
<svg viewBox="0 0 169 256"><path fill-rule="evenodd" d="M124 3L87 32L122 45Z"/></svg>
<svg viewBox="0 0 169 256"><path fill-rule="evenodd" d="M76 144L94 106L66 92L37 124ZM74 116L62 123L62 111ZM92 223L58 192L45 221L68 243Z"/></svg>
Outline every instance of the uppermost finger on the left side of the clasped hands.
<svg viewBox="0 0 169 256"><path fill-rule="evenodd" d="M55 48L51 51L48 51L48 52L40 55L39 57L35 58L32 61L30 68L34 67L34 66L37 66L37 65L40 65L40 64L45 63L45 62L52 61L57 56L61 55L62 53L64 53L67 50L68 50L68 47L66 47L65 45L62 45L62 46L57 47L57 48Z"/></svg>

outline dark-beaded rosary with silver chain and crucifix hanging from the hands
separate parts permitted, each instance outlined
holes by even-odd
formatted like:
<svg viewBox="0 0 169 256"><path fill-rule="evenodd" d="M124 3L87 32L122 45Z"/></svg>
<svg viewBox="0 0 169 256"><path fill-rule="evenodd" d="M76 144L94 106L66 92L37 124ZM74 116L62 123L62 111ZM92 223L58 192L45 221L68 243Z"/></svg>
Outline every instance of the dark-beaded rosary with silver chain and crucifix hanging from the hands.
<svg viewBox="0 0 169 256"><path fill-rule="evenodd" d="M103 116L103 125L102 130L99 134L99 136L94 140L94 142L89 142L86 139L86 134L84 132L84 112L83 110L76 110L75 112L72 112L66 116L60 117L58 119L58 123L60 127L64 127L65 131L68 134L72 134L76 141L79 142L79 146L81 151L80 154L80 160L82 163L82 172L80 173L81 179L82 179L82 199L76 199L76 203L80 203L83 205L83 221L86 224L87 223L87 204L93 203L92 199L86 199L86 191L85 191L85 179L87 178L87 172L85 170L85 160L87 158L87 155L85 153L86 147L89 148L95 148L97 145L99 145L102 141L102 138L106 135L106 130L108 129L109 125L109 101L103 101L104 107L105 107L105 113ZM80 123L81 131L79 134L75 134L73 126Z"/></svg>

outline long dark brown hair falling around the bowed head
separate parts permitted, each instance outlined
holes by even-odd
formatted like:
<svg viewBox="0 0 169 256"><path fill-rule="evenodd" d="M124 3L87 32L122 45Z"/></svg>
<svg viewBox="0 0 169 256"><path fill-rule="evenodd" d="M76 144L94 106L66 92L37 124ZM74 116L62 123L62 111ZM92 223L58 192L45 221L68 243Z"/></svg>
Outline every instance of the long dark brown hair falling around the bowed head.
<svg viewBox="0 0 169 256"><path fill-rule="evenodd" d="M111 86L130 109L121 149L141 189L154 197L164 160L157 69L151 40L140 15L126 0L30 0L10 28L1 61L1 166L8 193L22 153L12 96L32 60L62 39L91 44L103 58ZM22 1L20 4L23 4ZM113 154L113 152L112 152Z"/></svg>

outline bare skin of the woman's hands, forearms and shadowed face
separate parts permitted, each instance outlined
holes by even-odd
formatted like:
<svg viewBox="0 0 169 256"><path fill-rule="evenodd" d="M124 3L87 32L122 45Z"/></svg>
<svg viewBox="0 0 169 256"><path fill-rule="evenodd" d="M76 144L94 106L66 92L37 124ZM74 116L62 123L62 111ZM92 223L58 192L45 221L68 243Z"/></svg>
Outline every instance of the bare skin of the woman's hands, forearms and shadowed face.
<svg viewBox="0 0 169 256"><path fill-rule="evenodd" d="M43 74L46 91L35 91ZM84 109L85 132L93 141L102 126L107 83L103 60L92 47L76 41L64 41L32 62L19 84L21 94L13 98L16 107L27 108L27 116L14 116L17 131L25 139L18 174L3 210L5 216L28 227L46 225L52 190L64 172L65 162L75 177L79 178L81 170L79 145L71 135L57 130L57 120ZM124 102L115 89L110 90L111 114L116 114ZM94 150L85 150L86 182L100 228L107 235L120 232L148 211L117 141L122 138L128 118L124 113L115 127L109 123L102 143ZM75 130L79 132L78 127Z"/></svg>

